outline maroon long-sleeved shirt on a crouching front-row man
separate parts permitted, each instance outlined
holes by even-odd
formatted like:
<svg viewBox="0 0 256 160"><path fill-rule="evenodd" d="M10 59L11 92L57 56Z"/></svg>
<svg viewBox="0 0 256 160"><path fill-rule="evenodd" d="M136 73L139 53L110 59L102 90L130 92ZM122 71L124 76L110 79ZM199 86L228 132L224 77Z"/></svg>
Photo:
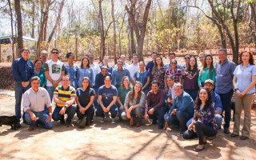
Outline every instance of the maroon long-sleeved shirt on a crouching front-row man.
<svg viewBox="0 0 256 160"><path fill-rule="evenodd" d="M154 94L153 90L150 90L146 95L146 108L145 113L150 108L154 108L154 110L158 110L159 107L165 106L165 94L162 90L158 90L157 94Z"/></svg>

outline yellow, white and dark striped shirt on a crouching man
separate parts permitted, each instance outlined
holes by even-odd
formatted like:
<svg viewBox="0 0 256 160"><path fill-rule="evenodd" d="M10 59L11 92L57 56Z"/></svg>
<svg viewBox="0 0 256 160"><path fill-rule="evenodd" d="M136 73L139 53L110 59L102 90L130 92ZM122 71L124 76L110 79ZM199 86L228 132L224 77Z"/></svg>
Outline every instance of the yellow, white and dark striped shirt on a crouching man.
<svg viewBox="0 0 256 160"><path fill-rule="evenodd" d="M67 102L71 97L76 97L74 87L69 86L66 90L64 90L63 86L57 86L54 90L54 94L58 94L58 99ZM58 104L57 106L65 106L64 104Z"/></svg>

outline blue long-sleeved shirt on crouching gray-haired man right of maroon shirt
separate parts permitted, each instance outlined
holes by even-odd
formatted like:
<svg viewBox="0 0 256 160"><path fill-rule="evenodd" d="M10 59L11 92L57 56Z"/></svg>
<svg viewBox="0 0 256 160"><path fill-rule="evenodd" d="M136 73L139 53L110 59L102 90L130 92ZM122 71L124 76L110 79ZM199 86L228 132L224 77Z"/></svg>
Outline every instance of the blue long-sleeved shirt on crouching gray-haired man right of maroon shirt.
<svg viewBox="0 0 256 160"><path fill-rule="evenodd" d="M174 103L170 108L169 114L174 110L177 109L177 111L186 112L187 114L190 114L193 116L194 114L194 101L191 98L190 94L187 94L185 91L183 91L182 95L180 97L176 96L174 98Z"/></svg>

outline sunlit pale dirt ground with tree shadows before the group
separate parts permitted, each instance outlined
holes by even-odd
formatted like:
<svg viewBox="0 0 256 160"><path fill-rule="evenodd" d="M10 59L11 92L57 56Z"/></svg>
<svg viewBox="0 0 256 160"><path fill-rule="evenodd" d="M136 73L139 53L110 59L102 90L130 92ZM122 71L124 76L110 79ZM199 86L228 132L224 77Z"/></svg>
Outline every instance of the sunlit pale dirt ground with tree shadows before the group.
<svg viewBox="0 0 256 160"><path fill-rule="evenodd" d="M14 97L0 93L0 115L14 114ZM223 129L217 138L208 141L206 149L193 151L198 139L186 141L178 136L178 128L158 130L158 126L143 121L139 128L128 122L100 123L94 118L91 126L78 129L53 122L52 130L42 127L33 131L22 124L18 130L0 127L1 159L255 159L256 116L252 111L250 139L230 138ZM231 130L233 122L230 124Z"/></svg>

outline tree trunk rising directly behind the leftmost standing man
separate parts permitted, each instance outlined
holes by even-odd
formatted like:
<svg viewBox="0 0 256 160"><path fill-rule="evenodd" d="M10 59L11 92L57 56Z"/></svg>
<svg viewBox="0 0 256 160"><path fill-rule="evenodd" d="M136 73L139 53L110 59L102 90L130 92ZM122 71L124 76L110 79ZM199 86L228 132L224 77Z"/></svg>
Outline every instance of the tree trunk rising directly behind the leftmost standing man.
<svg viewBox="0 0 256 160"><path fill-rule="evenodd" d="M20 0L14 0L15 4L15 12L17 15L17 23L18 23L18 54L23 49L23 39L22 39L22 12L21 12L21 4Z"/></svg>

